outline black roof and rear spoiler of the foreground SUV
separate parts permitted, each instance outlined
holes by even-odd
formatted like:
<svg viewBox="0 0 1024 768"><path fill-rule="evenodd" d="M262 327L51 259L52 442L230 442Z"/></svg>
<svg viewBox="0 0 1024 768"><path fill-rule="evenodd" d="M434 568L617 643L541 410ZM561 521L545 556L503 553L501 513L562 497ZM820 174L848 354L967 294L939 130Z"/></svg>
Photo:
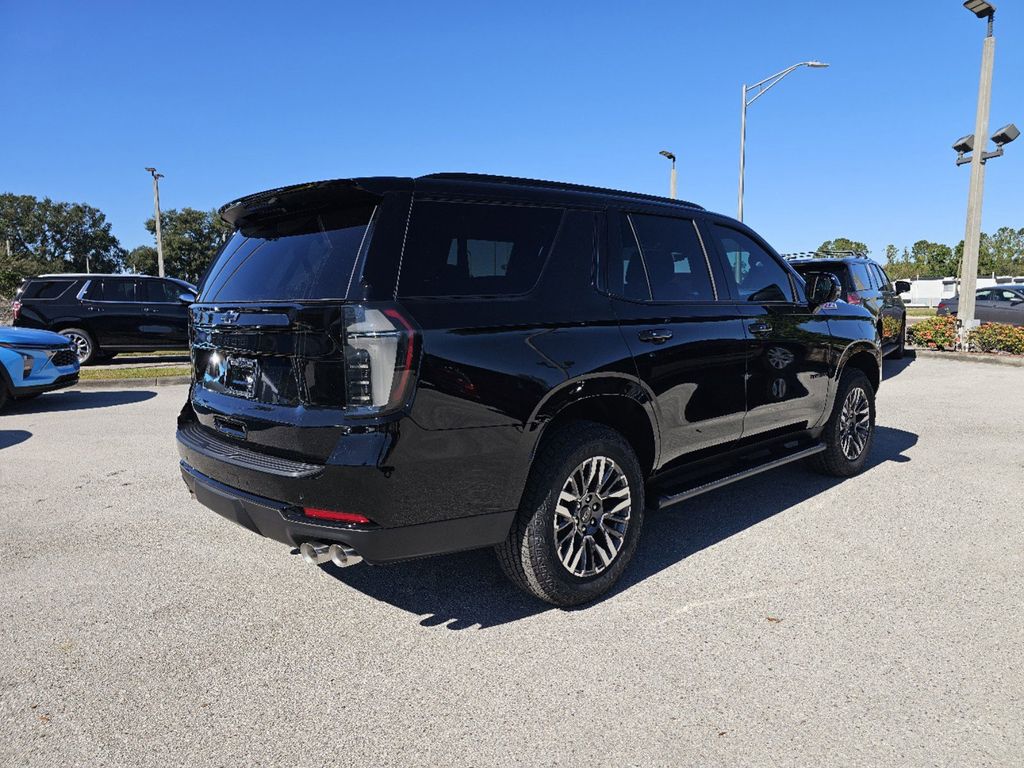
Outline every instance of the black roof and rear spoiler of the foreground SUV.
<svg viewBox="0 0 1024 768"><path fill-rule="evenodd" d="M305 184L282 186L239 198L220 209L220 216L228 224L238 226L253 215L284 213L310 203L331 199L379 196L388 191L423 190L438 195L479 195L501 198L541 200L568 205L603 205L609 201L620 203L643 202L687 210L705 210L695 203L672 200L656 195L606 189L562 181L492 176L483 173L432 173L416 178L397 176L367 176L347 179L311 181ZM289 206L289 203L292 205Z"/></svg>

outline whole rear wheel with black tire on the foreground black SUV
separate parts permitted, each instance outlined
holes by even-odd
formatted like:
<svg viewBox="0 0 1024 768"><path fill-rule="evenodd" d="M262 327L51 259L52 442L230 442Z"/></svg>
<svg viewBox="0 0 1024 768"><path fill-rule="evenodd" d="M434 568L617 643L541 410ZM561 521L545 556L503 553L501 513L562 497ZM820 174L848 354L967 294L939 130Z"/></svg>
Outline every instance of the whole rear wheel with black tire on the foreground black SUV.
<svg viewBox="0 0 1024 768"><path fill-rule="evenodd" d="M608 478L603 485L596 475L583 482L587 477L578 474L586 472L584 468L591 461L594 463L589 466ZM563 488L570 482L584 487L577 500L562 504ZM599 493L595 496L589 493L591 488ZM625 496L624 488L628 490ZM585 504L585 499L593 506ZM617 510L623 501L629 506ZM643 511L643 473L630 444L604 425L572 422L545 438L534 459L512 529L495 550L502 570L522 590L554 605L579 605L618 581L636 551ZM558 524L563 526L560 537L556 534ZM587 539L591 540L589 545ZM578 549L567 549L578 541ZM613 550L614 542L618 542L617 550ZM567 553L567 564L559 556L560 545ZM580 554L573 557L573 552ZM591 574L586 572L588 562L594 570Z"/></svg>

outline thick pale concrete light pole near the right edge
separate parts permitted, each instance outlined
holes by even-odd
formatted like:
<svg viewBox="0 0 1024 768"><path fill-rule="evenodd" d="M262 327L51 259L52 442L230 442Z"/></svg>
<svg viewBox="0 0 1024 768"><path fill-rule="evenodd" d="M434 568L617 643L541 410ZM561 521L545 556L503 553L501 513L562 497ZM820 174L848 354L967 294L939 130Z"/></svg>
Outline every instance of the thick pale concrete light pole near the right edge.
<svg viewBox="0 0 1024 768"><path fill-rule="evenodd" d="M974 152L971 155L971 188L967 197L967 228L964 232L964 258L961 260L961 292L956 315L964 344L975 319L975 290L978 286L978 251L981 247L981 202L985 189L985 143L988 137L988 109L992 100L992 69L995 63L995 36L992 34L995 6L990 3L964 3L979 18L988 19L988 34L981 52L981 78L978 81L978 113L974 123ZM974 5L975 7L972 7ZM981 142L980 144L978 142Z"/></svg>

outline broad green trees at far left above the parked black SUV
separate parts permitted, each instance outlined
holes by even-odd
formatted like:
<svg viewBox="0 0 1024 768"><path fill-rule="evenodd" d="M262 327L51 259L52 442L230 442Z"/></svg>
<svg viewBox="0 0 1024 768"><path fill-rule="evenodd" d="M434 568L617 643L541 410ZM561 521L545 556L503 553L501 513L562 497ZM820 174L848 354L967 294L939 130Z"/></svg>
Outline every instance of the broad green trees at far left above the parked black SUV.
<svg viewBox="0 0 1024 768"><path fill-rule="evenodd" d="M31 195L0 195L0 290L29 274L121 268L124 249L102 211ZM9 245L9 252L7 244Z"/></svg>

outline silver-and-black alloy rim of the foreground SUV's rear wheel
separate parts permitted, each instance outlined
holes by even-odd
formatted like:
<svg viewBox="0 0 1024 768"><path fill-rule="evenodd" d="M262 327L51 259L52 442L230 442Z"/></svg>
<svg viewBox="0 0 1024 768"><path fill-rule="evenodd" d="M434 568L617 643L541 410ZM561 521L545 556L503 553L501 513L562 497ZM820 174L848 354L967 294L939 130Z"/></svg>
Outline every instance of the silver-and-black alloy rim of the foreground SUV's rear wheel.
<svg viewBox="0 0 1024 768"><path fill-rule="evenodd" d="M574 577L602 573L626 541L632 500L626 473L611 459L595 456L565 480L555 504L555 550Z"/></svg>

